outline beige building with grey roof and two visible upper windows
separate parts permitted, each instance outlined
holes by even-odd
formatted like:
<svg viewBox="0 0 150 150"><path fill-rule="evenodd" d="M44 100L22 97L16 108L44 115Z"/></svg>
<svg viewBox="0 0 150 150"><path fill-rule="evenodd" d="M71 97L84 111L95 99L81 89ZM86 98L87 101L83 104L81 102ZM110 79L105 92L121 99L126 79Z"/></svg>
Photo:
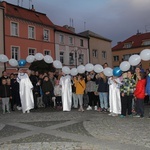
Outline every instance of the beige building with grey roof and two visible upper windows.
<svg viewBox="0 0 150 150"><path fill-rule="evenodd" d="M89 30L79 34L89 38L89 62L94 65L108 63L112 67L111 40Z"/></svg>

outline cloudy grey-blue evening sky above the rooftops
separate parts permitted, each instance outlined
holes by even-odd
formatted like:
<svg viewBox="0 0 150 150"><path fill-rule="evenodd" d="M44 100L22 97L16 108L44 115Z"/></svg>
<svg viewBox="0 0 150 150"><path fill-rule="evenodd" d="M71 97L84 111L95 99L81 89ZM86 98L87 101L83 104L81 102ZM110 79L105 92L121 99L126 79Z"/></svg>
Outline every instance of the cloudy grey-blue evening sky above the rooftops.
<svg viewBox="0 0 150 150"><path fill-rule="evenodd" d="M18 0L5 0L18 4ZM45 13L57 25L76 33L91 30L112 40L112 46L137 33L150 32L150 0L19 0L19 5Z"/></svg>

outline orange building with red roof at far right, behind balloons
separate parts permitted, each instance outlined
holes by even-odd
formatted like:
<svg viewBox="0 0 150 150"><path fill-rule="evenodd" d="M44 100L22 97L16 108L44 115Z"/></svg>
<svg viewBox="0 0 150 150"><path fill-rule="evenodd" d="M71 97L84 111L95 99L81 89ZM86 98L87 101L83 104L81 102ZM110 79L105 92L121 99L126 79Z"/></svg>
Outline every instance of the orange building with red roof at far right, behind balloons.
<svg viewBox="0 0 150 150"><path fill-rule="evenodd" d="M140 54L144 49L150 49L150 32L137 33L119 42L112 48L113 67L119 66L122 61L128 61L129 57L134 54ZM141 61L139 64L143 69L149 69L149 61Z"/></svg>

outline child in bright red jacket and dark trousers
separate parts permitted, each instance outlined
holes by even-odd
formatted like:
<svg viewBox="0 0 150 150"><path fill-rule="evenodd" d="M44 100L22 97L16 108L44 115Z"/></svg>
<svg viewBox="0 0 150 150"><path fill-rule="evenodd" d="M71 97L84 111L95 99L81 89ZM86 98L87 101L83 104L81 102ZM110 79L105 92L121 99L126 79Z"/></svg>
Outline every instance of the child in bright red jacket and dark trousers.
<svg viewBox="0 0 150 150"><path fill-rule="evenodd" d="M136 89L134 91L135 96L135 103L136 103L136 110L137 115L134 117L144 117L144 97L145 97L145 86L146 86L146 79L145 73L140 73L138 76L138 82L136 84Z"/></svg>

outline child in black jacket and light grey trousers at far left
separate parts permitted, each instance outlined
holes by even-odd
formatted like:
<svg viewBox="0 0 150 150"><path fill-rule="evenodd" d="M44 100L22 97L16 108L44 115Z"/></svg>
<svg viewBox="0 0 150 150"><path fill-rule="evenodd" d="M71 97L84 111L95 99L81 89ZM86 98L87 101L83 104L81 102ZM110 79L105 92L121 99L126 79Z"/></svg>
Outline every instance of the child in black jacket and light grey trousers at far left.
<svg viewBox="0 0 150 150"><path fill-rule="evenodd" d="M9 100L12 99L11 97L11 89L10 86L7 85L7 80L2 79L2 85L0 86L0 100L2 100L2 109L3 109L3 114L5 114L5 106L7 109L7 112L10 113L9 111Z"/></svg>

